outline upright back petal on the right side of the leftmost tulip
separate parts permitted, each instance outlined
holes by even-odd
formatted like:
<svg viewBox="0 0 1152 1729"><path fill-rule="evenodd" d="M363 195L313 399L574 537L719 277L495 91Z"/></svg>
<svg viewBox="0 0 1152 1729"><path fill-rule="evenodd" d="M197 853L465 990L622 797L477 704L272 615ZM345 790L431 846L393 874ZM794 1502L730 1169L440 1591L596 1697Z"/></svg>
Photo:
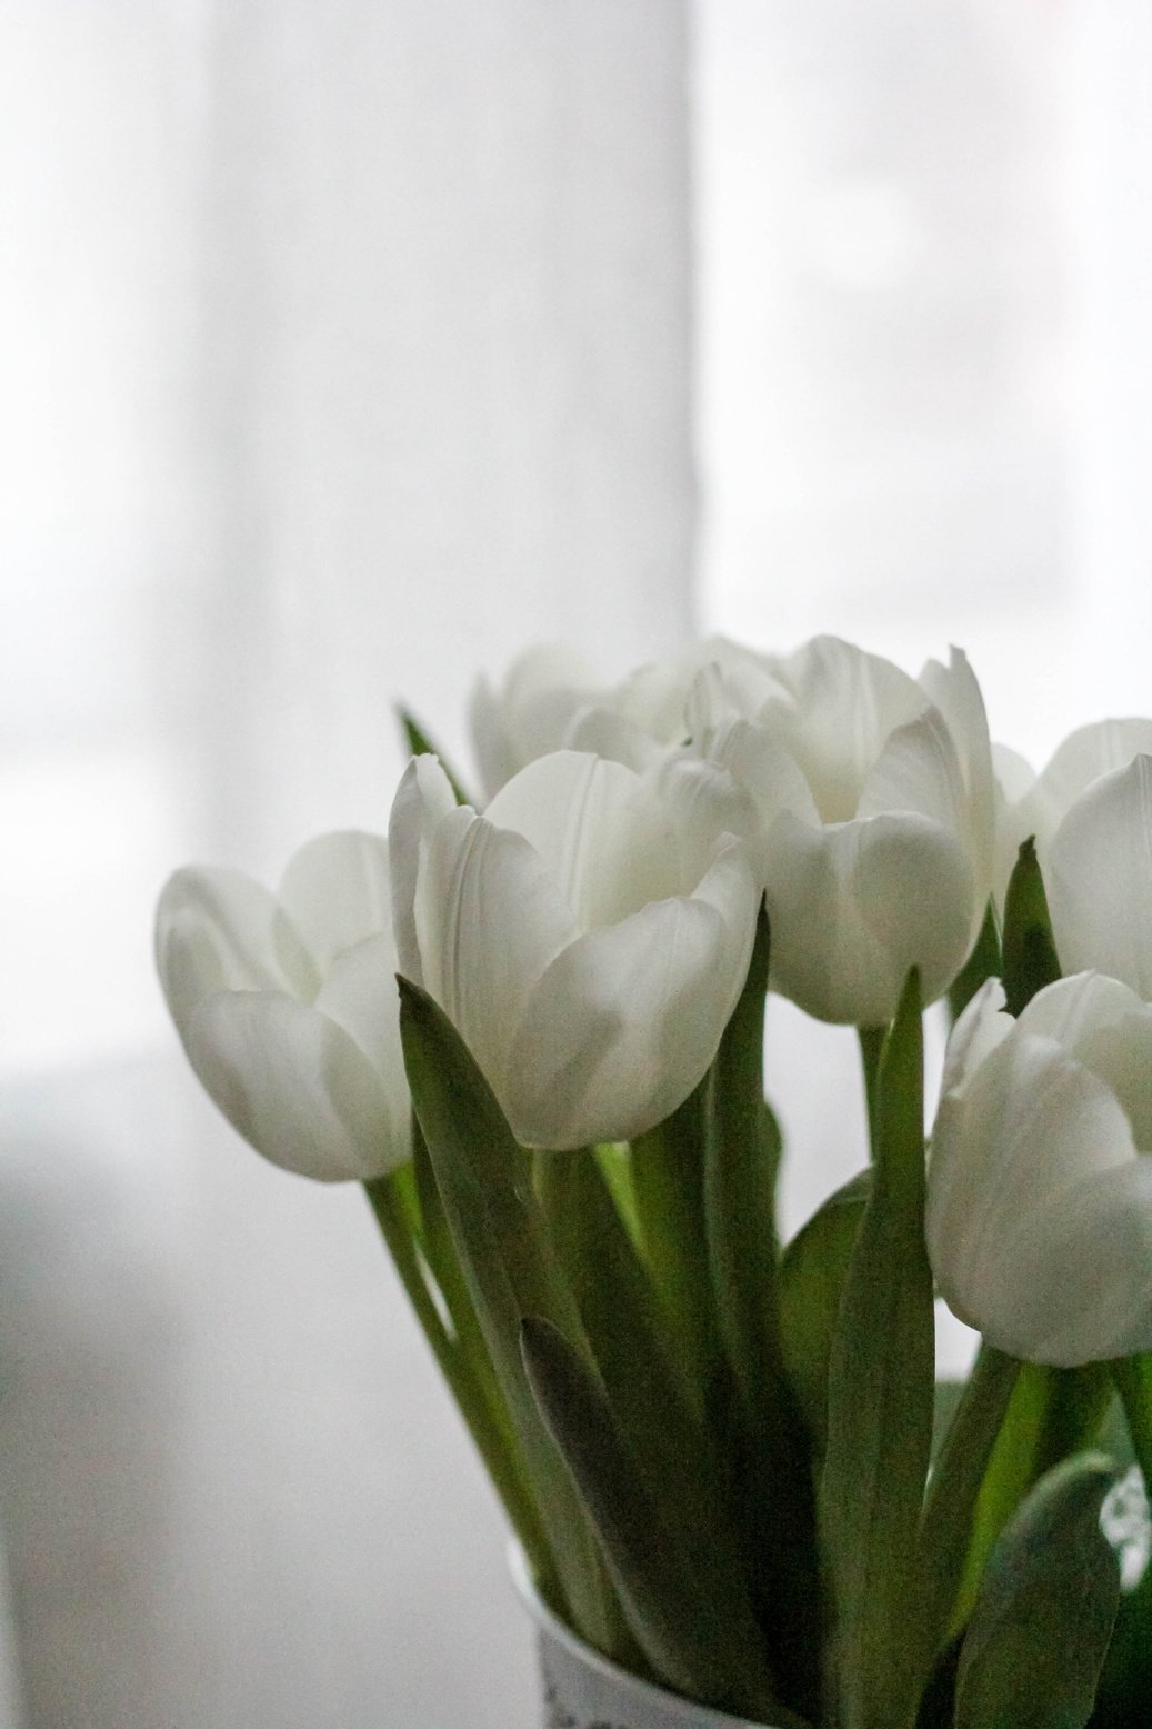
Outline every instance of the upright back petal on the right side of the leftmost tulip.
<svg viewBox="0 0 1152 1729"><path fill-rule="evenodd" d="M327 972L344 949L391 932L387 842L356 830L318 835L289 859L278 899Z"/></svg>

